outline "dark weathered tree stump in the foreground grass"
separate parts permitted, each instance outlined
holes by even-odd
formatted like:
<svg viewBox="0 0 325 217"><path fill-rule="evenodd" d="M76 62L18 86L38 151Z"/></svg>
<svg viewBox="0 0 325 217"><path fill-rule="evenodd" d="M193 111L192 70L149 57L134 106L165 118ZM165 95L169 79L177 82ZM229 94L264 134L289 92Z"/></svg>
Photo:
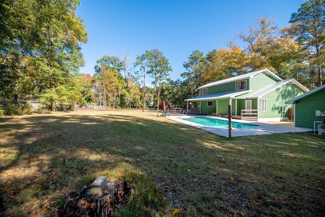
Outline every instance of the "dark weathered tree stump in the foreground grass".
<svg viewBox="0 0 325 217"><path fill-rule="evenodd" d="M108 180L100 194L91 195L92 183L66 196L62 216L112 216L117 205L122 205L130 193L127 181Z"/></svg>

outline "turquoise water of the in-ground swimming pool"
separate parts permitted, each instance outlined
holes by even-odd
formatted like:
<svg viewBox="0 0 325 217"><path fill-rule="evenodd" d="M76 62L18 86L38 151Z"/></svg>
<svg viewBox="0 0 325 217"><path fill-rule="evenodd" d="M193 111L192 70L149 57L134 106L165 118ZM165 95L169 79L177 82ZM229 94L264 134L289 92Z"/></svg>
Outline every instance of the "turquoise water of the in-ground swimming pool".
<svg viewBox="0 0 325 217"><path fill-rule="evenodd" d="M193 123L199 123L211 128L227 128L228 129L228 120L220 120L210 117L178 117L179 119L187 120ZM258 125L251 125L249 123L240 123L232 121L232 128L241 129L241 130L257 130L262 129Z"/></svg>

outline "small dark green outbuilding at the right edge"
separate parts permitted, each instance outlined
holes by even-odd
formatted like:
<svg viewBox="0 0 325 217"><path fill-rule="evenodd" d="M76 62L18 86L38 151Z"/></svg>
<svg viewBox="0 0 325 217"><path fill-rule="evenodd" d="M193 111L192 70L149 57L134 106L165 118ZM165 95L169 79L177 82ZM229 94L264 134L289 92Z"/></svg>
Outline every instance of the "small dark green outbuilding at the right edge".
<svg viewBox="0 0 325 217"><path fill-rule="evenodd" d="M325 118L325 84L286 101L285 104L294 105L295 127L315 130Z"/></svg>

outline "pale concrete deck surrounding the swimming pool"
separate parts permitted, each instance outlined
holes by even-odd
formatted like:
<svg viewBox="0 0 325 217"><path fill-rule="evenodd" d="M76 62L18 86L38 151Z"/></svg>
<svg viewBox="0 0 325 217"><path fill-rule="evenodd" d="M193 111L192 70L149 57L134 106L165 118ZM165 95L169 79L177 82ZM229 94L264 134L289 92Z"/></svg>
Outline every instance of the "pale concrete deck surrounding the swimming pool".
<svg viewBox="0 0 325 217"><path fill-rule="evenodd" d="M207 116L205 116L207 117ZM213 116L209 116L211 118L227 120L228 118L217 118ZM193 123L190 121L186 121L185 119L179 119L177 116L170 116L169 119L175 120L177 122L184 123L186 125L190 125L192 127L200 128L202 130L218 134L220 136L229 136L228 129L221 129L221 128L211 128L204 125L200 125L199 123ZM262 129L257 130L240 130L240 129L232 129L232 137L235 136L254 136L254 135L265 135L265 134L273 134L273 133L298 133L298 132L310 132L313 129L307 128L296 128L294 127L293 122L289 121L278 121L278 122L253 122L253 121L245 121L240 119L232 119L234 122L241 122L241 123L251 123L253 125L258 125Z"/></svg>

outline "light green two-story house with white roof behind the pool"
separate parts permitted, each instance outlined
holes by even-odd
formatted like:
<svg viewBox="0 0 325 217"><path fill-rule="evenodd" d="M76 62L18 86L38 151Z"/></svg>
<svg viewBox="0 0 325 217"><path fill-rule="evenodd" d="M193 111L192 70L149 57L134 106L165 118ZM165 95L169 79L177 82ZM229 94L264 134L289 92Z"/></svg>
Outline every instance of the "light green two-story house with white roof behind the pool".
<svg viewBox="0 0 325 217"><path fill-rule="evenodd" d="M283 80L268 69L212 82L198 88L200 96L185 100L198 103L201 114L257 121L287 120L293 107L284 102L309 91L291 78ZM245 118L244 118L245 117Z"/></svg>

